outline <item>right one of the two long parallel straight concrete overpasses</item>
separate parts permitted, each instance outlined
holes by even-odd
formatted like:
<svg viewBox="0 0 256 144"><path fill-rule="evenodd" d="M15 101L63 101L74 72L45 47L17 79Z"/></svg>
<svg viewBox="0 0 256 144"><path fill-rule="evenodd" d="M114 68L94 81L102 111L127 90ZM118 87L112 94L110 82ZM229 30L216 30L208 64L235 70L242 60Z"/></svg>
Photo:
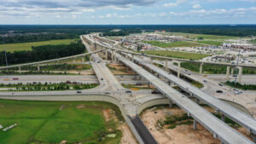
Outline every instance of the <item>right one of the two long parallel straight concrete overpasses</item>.
<svg viewBox="0 0 256 144"><path fill-rule="evenodd" d="M98 38L101 38L101 37L98 37ZM105 38L105 40L106 40L106 38ZM98 43L98 44L102 45L102 43ZM256 143L256 120L254 118L252 118L251 116L247 115L244 112L241 112L240 110L236 109L235 107L231 107L229 104L224 103L223 101L220 101L217 98L214 98L212 95L207 95L206 93L201 91L201 89L195 88L194 86L186 83L182 79L177 78L172 75L169 75L167 72L164 72L159 67L150 64L152 62L148 63L147 61L144 61L137 57L134 57L134 52L130 52L127 50L122 50L122 49L115 49L113 47L109 47L106 45L102 45L102 47L106 47L108 49L113 49L113 50L117 50L122 53L130 54L131 60L137 60L143 66L147 66L150 70L157 72L164 78L168 79L169 81L173 82L174 84L177 84L178 87L180 87L184 91L188 92L190 95L195 96L197 99L199 99L201 101L205 101L209 106L215 108L218 112L223 113L225 116L231 118L236 123L241 124L242 126L247 128L247 130L249 130L253 134L253 141ZM145 55L143 55L143 56L145 56Z"/></svg>

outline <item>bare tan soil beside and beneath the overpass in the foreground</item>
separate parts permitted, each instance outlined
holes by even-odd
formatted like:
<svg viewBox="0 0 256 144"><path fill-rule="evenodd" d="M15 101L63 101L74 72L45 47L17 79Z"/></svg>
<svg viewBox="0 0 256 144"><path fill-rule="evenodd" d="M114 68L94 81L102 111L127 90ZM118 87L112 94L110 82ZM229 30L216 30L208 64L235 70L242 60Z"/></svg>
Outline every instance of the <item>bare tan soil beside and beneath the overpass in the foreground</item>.
<svg viewBox="0 0 256 144"><path fill-rule="evenodd" d="M207 107L207 111L212 112L212 108ZM167 115L182 116L185 112L179 107L158 107L156 109L145 110L141 118L148 130L160 144L219 144L218 139L205 129L201 124L197 124L197 130L193 130L193 123L177 124L175 127L164 125L160 128L159 121L164 121ZM187 122L187 121L186 121ZM238 128L242 135L249 135L243 128Z"/></svg>

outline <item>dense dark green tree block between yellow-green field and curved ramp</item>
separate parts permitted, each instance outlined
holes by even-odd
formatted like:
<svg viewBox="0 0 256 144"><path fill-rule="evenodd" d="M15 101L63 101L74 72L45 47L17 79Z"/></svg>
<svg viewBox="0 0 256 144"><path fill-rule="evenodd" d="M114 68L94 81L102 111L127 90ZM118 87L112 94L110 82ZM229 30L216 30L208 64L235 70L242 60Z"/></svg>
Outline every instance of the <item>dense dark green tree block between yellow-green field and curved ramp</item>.
<svg viewBox="0 0 256 144"><path fill-rule="evenodd" d="M32 50L6 52L8 64L20 64L32 61L51 60L86 52L84 44L79 40L70 44L43 45L32 47ZM0 66L6 65L5 51L0 52Z"/></svg>

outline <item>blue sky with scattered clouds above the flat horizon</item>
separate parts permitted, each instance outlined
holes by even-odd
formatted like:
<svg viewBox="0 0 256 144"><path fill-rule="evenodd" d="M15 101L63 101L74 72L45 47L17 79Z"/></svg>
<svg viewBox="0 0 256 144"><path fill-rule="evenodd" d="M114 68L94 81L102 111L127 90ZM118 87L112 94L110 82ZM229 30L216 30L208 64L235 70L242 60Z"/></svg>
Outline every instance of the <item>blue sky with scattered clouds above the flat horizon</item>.
<svg viewBox="0 0 256 144"><path fill-rule="evenodd" d="M1 24L256 24L256 0L0 0Z"/></svg>

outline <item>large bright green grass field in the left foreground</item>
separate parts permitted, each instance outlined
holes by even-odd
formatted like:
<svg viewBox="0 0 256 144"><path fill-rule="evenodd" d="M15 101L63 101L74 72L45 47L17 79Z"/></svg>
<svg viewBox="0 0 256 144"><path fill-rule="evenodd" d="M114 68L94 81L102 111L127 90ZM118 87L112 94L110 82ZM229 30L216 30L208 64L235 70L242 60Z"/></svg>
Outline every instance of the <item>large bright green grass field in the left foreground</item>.
<svg viewBox="0 0 256 144"><path fill-rule="evenodd" d="M3 144L118 144L122 135L113 120L104 120L104 109L113 109L120 116L117 107L105 102L0 100L0 107L0 124L4 128L18 124L5 132L0 130ZM113 133L117 134L114 138L106 137Z"/></svg>

